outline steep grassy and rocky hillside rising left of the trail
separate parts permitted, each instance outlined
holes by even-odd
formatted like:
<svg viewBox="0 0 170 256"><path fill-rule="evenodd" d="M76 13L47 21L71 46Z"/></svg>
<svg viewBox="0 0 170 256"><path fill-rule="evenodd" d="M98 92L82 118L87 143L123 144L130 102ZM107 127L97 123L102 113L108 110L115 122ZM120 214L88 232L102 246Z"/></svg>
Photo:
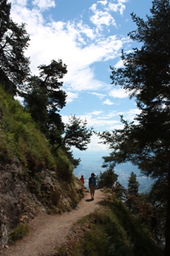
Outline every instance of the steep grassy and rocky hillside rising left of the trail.
<svg viewBox="0 0 170 256"><path fill-rule="evenodd" d="M62 150L51 153L44 135L17 100L0 88L0 246L40 211L76 207L83 186Z"/></svg>

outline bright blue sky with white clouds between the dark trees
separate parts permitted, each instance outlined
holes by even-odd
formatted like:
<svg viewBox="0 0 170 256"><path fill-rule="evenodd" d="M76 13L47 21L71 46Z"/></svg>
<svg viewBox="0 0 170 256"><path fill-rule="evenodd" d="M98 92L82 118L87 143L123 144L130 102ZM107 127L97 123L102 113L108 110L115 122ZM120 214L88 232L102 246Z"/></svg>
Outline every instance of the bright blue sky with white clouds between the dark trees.
<svg viewBox="0 0 170 256"><path fill-rule="evenodd" d="M113 87L110 66L121 67L121 50L137 46L127 37L136 29L130 13L145 19L151 0L10 0L14 22L27 24L31 41L25 55L31 57L31 72L37 66L60 58L67 65L63 78L67 104L60 111L63 121L76 115L96 131L122 127L119 115L133 121L139 113L125 91ZM107 147L92 136L86 152L73 150L76 157L86 153L108 155Z"/></svg>

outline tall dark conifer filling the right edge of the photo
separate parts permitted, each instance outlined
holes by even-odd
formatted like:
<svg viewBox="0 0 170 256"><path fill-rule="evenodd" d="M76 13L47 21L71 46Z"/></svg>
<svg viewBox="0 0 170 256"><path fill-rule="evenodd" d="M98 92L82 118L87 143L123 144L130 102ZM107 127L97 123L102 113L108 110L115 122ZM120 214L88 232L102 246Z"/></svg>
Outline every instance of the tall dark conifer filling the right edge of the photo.
<svg viewBox="0 0 170 256"><path fill-rule="evenodd" d="M107 165L130 161L142 174L154 178L157 200L166 210L166 249L170 255L170 2L155 0L147 20L131 14L136 30L129 33L140 43L130 53L122 50L124 67L111 67L113 85L135 97L140 114L129 123L121 117L122 129L99 134L112 152ZM142 46L141 46L142 43ZM159 196L158 196L159 195ZM158 199L159 198L159 199ZM156 203L156 202L155 202ZM157 201L158 203L158 201Z"/></svg>

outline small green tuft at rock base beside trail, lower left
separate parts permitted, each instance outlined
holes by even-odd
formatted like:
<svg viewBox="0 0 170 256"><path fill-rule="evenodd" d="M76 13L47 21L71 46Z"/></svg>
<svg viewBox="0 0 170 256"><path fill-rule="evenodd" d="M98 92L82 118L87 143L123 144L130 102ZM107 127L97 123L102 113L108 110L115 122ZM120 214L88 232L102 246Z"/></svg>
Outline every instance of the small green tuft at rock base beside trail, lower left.
<svg viewBox="0 0 170 256"><path fill-rule="evenodd" d="M19 224L13 231L10 231L10 243L15 242L16 240L21 240L22 237L25 237L28 234L28 226L24 224Z"/></svg>

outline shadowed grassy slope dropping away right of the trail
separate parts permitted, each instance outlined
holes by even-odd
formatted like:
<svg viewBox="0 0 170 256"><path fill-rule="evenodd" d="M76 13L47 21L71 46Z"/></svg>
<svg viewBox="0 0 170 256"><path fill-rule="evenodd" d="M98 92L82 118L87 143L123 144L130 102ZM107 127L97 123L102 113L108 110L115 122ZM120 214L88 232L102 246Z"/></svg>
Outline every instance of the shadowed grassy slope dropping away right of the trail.
<svg viewBox="0 0 170 256"><path fill-rule="evenodd" d="M68 256L163 256L147 228L119 200L105 202L78 221L61 248ZM57 255L62 255L60 249Z"/></svg>

